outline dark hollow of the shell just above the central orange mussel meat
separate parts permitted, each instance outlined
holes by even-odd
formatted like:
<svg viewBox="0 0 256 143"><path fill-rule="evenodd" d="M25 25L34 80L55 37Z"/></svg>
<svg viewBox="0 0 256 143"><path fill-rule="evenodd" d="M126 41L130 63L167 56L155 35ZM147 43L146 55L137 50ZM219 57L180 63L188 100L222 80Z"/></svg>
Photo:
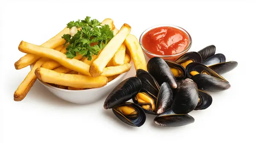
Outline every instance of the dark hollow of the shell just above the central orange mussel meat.
<svg viewBox="0 0 256 143"><path fill-rule="evenodd" d="M146 92L157 98L159 90L155 89L154 86L145 77L139 77L139 79L142 83L140 92Z"/></svg>

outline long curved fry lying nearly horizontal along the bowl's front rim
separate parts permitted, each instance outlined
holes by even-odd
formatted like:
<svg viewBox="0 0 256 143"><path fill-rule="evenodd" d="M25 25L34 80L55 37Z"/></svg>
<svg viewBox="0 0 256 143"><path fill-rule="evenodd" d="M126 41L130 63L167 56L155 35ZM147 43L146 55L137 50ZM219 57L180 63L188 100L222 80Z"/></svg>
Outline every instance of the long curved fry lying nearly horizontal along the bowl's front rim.
<svg viewBox="0 0 256 143"><path fill-rule="evenodd" d="M108 78L104 76L89 77L79 74L63 74L45 68L37 68L35 75L45 83L54 83L61 86L72 86L76 88L98 88L108 83Z"/></svg>

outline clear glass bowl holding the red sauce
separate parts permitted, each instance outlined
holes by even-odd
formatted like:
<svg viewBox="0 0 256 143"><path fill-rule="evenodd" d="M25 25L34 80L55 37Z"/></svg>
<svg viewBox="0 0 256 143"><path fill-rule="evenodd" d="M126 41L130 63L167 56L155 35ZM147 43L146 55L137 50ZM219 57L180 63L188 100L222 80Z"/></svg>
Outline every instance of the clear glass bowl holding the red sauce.
<svg viewBox="0 0 256 143"><path fill-rule="evenodd" d="M173 27L173 28L176 28L176 29L179 29L181 31L183 31L188 37L189 37L189 44L188 46L183 50L181 51L180 53L176 53L176 54L172 54L172 55L158 55L158 54L154 54L154 53L151 53L150 51L148 51L147 49L144 48L143 44L142 44L142 39L143 39L143 36L148 32L150 31L151 29L154 29L154 28L158 28L158 27L162 27L162 26L169 26L169 27ZM175 26L175 25L169 25L169 24L163 24L163 25L156 25L156 26L152 26L148 29L146 29L145 31L143 31L143 33L140 35L140 46L141 48L143 49L143 52L149 57L149 58L152 58L152 57L161 57L163 58L164 60L176 60L178 57L180 57L182 54L185 54L187 51L189 51L191 45L192 45L192 38L190 36L190 34L183 28L179 27L179 26Z"/></svg>

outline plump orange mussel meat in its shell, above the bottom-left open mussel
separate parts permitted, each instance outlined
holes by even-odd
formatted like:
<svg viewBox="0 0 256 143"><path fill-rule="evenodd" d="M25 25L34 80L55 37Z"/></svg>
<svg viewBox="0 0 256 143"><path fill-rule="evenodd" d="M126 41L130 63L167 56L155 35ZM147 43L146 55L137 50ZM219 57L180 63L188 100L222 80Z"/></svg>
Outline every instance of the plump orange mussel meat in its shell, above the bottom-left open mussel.
<svg viewBox="0 0 256 143"><path fill-rule="evenodd" d="M141 106L145 113L154 114L156 109L157 98L146 92L140 92L132 98L133 102Z"/></svg>

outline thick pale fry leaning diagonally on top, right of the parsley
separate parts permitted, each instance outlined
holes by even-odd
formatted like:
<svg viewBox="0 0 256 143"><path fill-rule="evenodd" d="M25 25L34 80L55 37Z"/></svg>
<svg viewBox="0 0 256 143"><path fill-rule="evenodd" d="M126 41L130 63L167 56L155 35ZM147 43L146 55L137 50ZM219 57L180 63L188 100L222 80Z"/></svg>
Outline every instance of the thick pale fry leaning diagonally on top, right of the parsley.
<svg viewBox="0 0 256 143"><path fill-rule="evenodd" d="M128 24L123 24L120 31L109 41L105 48L101 51L98 58L93 61L90 66L90 74L93 77L99 76L102 74L103 69L107 66L108 62L114 56L116 51L124 42L127 35L131 32L131 26Z"/></svg>

